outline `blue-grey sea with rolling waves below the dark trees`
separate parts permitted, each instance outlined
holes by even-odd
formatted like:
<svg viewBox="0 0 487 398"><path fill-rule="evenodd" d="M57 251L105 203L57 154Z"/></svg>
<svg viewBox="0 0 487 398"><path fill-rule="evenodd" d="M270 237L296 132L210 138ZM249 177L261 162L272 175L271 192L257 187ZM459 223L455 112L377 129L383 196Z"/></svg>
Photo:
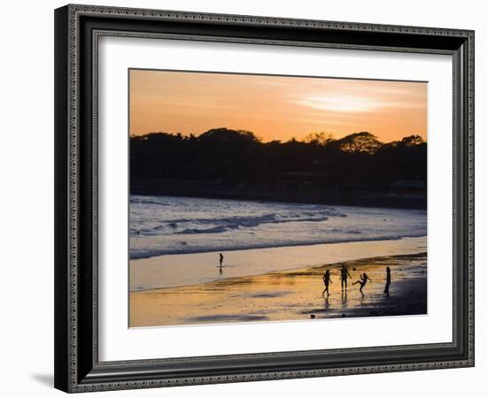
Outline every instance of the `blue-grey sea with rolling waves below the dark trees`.
<svg viewBox="0 0 487 398"><path fill-rule="evenodd" d="M130 257L426 235L426 210L130 197Z"/></svg>

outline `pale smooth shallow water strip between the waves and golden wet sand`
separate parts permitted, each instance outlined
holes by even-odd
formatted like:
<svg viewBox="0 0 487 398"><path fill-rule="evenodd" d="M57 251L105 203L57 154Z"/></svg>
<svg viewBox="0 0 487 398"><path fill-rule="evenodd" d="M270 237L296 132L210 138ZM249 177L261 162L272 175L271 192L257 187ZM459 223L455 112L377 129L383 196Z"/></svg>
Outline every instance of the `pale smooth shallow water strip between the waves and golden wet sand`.
<svg viewBox="0 0 487 398"><path fill-rule="evenodd" d="M336 264L378 256L413 255L427 251L426 236L387 241L349 241L305 246L153 256L130 260L129 290L194 286L236 277L257 276L306 266ZM249 261L251 258L251 262Z"/></svg>

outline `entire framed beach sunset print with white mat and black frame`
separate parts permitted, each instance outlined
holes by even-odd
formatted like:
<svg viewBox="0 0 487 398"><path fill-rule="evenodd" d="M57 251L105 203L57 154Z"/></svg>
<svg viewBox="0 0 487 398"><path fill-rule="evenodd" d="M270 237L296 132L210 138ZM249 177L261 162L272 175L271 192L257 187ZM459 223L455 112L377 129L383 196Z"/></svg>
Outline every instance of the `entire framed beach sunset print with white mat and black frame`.
<svg viewBox="0 0 487 398"><path fill-rule="evenodd" d="M55 11L55 386L474 365L474 32Z"/></svg>

